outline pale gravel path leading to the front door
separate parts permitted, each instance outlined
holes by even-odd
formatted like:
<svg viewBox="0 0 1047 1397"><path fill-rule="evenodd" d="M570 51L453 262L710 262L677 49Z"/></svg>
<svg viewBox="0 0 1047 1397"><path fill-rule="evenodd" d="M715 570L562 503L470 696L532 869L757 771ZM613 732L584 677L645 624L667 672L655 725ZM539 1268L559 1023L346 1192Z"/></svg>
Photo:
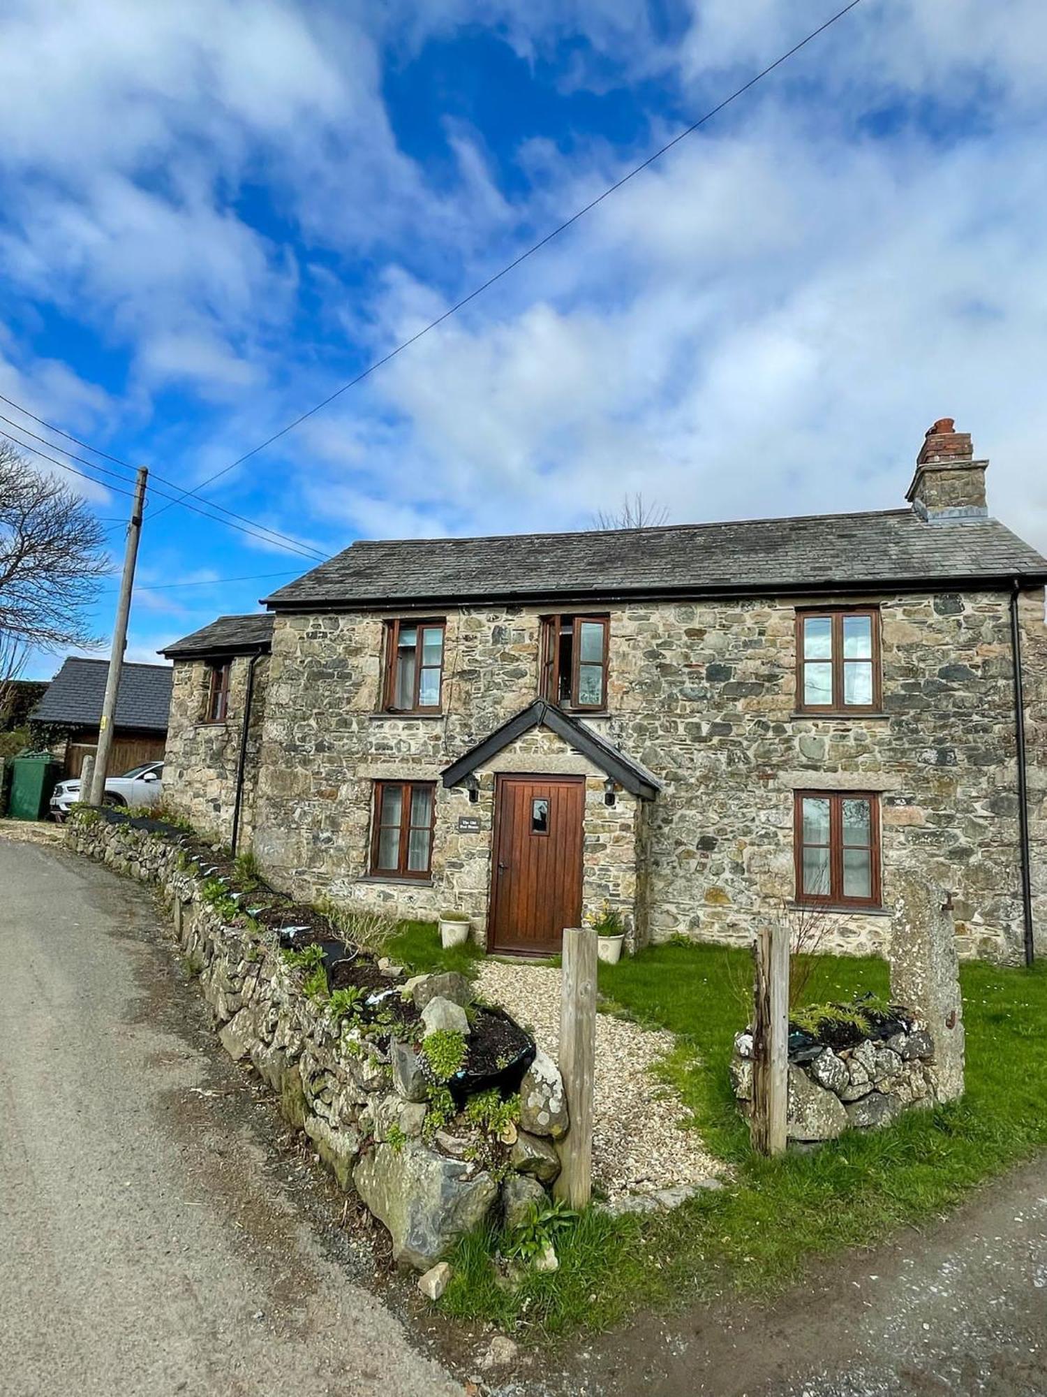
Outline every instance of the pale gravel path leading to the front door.
<svg viewBox="0 0 1047 1397"><path fill-rule="evenodd" d="M560 971L487 960L476 979L484 999L533 1030L556 1058L560 1042ZM630 1193L697 1183L719 1173L695 1130L681 1130L680 1098L652 1073L676 1044L670 1032L596 1016L593 1178L611 1200Z"/></svg>

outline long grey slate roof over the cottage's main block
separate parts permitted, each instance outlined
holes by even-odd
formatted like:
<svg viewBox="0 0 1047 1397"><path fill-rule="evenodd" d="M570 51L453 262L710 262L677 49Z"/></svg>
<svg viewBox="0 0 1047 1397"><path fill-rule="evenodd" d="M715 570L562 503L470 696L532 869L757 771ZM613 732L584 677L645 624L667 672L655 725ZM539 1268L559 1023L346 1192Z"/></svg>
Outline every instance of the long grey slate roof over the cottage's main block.
<svg viewBox="0 0 1047 1397"><path fill-rule="evenodd" d="M265 598L317 605L1047 580L1047 559L997 520L912 510L501 538L362 541Z"/></svg>

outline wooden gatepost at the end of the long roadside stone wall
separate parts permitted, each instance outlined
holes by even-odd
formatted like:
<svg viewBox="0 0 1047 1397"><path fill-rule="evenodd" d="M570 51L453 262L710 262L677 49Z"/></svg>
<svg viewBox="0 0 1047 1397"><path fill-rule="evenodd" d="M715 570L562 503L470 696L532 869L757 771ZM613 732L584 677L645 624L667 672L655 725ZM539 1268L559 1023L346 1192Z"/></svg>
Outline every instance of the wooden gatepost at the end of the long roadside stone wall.
<svg viewBox="0 0 1047 1397"><path fill-rule="evenodd" d="M553 1193L571 1208L592 1194L592 1098L596 1077L596 932L564 928L560 993L560 1076L571 1129L560 1141L560 1178Z"/></svg>

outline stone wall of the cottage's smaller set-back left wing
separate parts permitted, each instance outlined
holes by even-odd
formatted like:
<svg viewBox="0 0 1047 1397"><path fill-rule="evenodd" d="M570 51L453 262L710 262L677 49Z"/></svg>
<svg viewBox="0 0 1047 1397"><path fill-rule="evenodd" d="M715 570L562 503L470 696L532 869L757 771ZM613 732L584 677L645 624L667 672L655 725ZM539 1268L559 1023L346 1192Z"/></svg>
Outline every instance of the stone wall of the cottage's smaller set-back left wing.
<svg viewBox="0 0 1047 1397"><path fill-rule="evenodd" d="M202 659L179 659L170 694L168 747L163 759L163 803L194 830L228 844L233 828L236 773L247 700L250 657L237 655L229 672L229 717L205 722L211 666ZM247 735L240 806L242 848L250 847L268 682L268 657L254 666L251 725Z"/></svg>

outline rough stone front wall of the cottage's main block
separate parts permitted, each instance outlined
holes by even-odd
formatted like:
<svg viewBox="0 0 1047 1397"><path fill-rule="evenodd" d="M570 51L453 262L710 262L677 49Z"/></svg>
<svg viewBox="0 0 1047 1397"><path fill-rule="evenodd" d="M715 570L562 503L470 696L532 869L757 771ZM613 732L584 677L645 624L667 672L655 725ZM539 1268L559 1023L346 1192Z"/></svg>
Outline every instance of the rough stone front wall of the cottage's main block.
<svg viewBox="0 0 1047 1397"><path fill-rule="evenodd" d="M597 774L586 773L586 907L606 887L632 901L637 926L655 940L747 942L793 895L794 792L871 791L882 807L884 907L895 873L920 870L953 890L963 954L1019 954L1008 597L946 591L878 602L884 711L847 718L796 712L787 599L611 609L609 715L589 721L663 791L644 810L620 796L609 812ZM458 814L477 806L438 787L431 887L366 879L371 782L438 780L533 700L539 616L539 608L448 612L445 715L424 718L377 711L384 616L278 616L255 821L255 852L269 873L300 895L329 891L426 915L454 902L482 918L493 768L483 773L479 835L456 830ZM1023 598L1022 623L1037 936L1047 949L1041 592ZM525 745L517 760L535 771L579 760L551 743L544 753ZM630 858L614 866L630 821ZM600 856L604 844L613 856ZM648 851L639 869L637 847ZM822 944L882 950L889 916L826 914Z"/></svg>

